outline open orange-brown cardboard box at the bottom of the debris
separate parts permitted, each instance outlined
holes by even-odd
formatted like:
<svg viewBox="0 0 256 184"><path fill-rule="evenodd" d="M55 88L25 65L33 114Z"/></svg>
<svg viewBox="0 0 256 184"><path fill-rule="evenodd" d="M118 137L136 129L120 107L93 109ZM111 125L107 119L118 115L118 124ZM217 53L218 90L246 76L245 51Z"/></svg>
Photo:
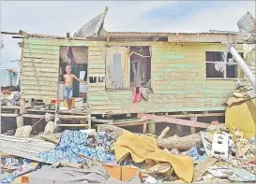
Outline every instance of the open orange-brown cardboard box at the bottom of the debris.
<svg viewBox="0 0 256 184"><path fill-rule="evenodd" d="M112 164L102 164L110 177L120 181L128 181L130 178L139 175L139 169L136 167L120 166Z"/></svg>

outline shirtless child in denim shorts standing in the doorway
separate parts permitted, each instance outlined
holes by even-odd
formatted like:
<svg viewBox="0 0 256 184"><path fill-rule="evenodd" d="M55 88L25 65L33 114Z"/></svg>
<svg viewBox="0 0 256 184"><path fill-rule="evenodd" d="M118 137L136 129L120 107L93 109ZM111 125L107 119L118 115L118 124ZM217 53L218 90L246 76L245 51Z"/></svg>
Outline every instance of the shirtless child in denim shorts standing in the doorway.
<svg viewBox="0 0 256 184"><path fill-rule="evenodd" d="M77 78L75 75L71 74L71 65L66 66L66 75L64 75L65 84L64 84L64 99L68 105L68 110L71 111L72 106L72 97L73 97L73 78L75 78L79 82L86 83L80 78Z"/></svg>

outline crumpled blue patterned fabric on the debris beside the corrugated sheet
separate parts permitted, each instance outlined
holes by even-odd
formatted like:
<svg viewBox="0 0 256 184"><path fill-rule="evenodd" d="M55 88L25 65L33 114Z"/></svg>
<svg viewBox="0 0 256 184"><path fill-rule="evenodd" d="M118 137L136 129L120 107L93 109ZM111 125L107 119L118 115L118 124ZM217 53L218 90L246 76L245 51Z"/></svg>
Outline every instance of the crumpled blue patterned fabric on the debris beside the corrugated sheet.
<svg viewBox="0 0 256 184"><path fill-rule="evenodd" d="M47 163L84 163L90 160L101 163L115 161L114 155L109 152L108 148L105 148L110 144L110 137L106 135L106 133L98 133L96 144L92 144L92 140L88 140L88 134L66 130L61 134L60 141L55 149L40 152L38 157ZM100 141L101 143L99 143ZM85 156L85 158L78 153Z"/></svg>

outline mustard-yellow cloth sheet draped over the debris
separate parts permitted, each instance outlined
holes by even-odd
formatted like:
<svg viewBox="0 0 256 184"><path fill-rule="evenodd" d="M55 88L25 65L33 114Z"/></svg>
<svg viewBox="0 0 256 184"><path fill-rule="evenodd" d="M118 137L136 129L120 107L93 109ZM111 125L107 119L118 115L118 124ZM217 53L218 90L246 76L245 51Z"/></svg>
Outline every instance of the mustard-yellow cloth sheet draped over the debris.
<svg viewBox="0 0 256 184"><path fill-rule="evenodd" d="M188 156L173 155L158 149L155 138L124 132L114 144L116 161L119 162L130 154L135 163L143 163L146 159L171 163L177 177L185 182L193 178L193 159Z"/></svg>

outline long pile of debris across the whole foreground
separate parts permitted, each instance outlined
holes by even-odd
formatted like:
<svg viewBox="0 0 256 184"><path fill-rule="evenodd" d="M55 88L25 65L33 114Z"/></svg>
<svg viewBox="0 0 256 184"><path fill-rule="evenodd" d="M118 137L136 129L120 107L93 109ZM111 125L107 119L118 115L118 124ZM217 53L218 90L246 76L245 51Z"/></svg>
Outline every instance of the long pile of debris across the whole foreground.
<svg viewBox="0 0 256 184"><path fill-rule="evenodd" d="M106 124L98 132L66 130L34 138L1 134L1 182L255 181L255 138L245 139L239 129L233 133L212 123L198 134L167 138ZM191 138L190 146L176 144Z"/></svg>

